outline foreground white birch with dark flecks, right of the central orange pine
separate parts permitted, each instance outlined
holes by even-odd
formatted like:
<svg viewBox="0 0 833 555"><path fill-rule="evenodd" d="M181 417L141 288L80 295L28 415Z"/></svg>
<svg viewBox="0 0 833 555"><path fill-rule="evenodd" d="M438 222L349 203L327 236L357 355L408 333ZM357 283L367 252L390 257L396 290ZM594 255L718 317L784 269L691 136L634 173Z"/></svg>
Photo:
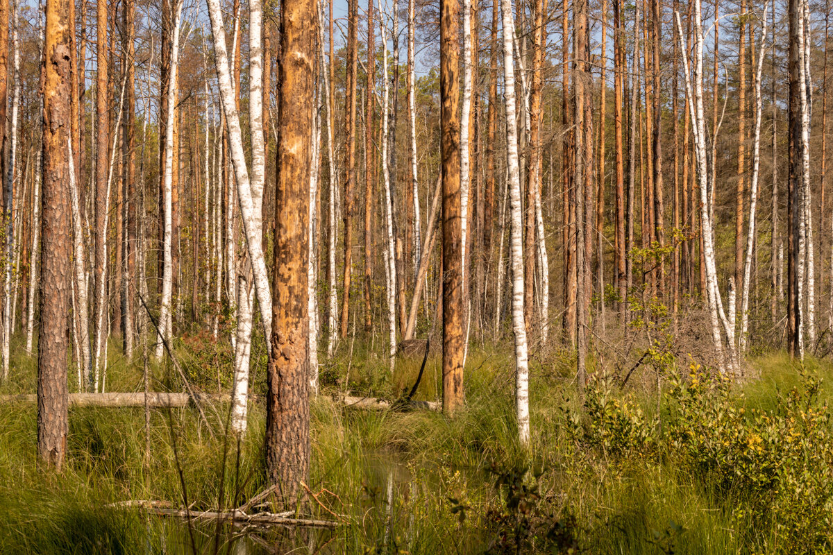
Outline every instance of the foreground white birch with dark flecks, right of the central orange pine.
<svg viewBox="0 0 833 555"><path fill-rule="evenodd" d="M515 332L515 405L518 436L528 446L529 368L526 353L526 323L523 314L523 225L521 223L521 171L518 166L518 131L515 107L515 67L512 57L512 3L501 0L503 23L503 87L506 98L506 166L511 203L512 329Z"/></svg>

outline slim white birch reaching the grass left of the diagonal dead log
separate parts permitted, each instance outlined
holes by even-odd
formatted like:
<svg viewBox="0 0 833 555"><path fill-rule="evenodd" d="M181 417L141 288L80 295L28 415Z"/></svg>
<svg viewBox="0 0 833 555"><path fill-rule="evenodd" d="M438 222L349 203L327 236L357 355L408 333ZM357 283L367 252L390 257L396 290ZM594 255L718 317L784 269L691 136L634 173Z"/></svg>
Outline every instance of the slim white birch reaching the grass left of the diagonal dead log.
<svg viewBox="0 0 833 555"><path fill-rule="evenodd" d="M466 0L467 2L468 0ZM387 8L387 2L385 3ZM396 7L394 7L396 9ZM387 11L387 10L386 10ZM385 273L387 275L387 321L389 331L391 374L397 365L397 259L394 252L393 244L393 199L391 196L391 175L387 160L387 144L388 144L388 96L390 87L388 84L387 75L387 27L382 22L382 72L384 78L383 93L382 93L382 177L385 181L385 222L387 235L387 250L385 251ZM462 136L466 135L466 126L463 126ZM466 220L465 212L463 212L463 221ZM465 227L463 228L465 230ZM465 233L465 231L464 231ZM465 239L463 240L465 245ZM463 260L466 260L465 256Z"/></svg>

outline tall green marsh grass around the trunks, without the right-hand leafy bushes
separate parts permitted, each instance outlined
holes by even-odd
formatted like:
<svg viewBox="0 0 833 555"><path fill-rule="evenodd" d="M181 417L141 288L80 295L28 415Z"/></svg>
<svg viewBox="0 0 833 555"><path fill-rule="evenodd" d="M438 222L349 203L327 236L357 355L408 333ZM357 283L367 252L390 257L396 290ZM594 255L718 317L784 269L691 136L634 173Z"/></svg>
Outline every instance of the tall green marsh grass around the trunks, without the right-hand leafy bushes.
<svg viewBox="0 0 833 555"><path fill-rule="evenodd" d="M307 485L317 500L307 495L297 510L316 518L332 519L329 511L342 515L342 527L334 533L244 534L211 524L189 532L179 522L108 507L127 499L156 499L194 510L232 508L251 498L266 485L265 422L257 403L240 444L224 434L227 406L207 411L213 436L193 409L154 409L149 462L142 409L72 408L67 467L60 475L38 466L35 406L5 404L0 410L0 553L192 553L195 546L199 553L239 553L241 548L267 553L267 547L277 553L308 548L322 553L501 553L510 548L512 553L515 548L568 553L571 547L584 553L780 553L774 528L758 528L739 510L746 503L744 493L717 488L668 451L617 457L576 444L566 430L581 413L580 404L574 384L556 364L533 364L533 437L531 448L522 448L516 440L511 349L503 347L470 353L466 409L455 419L427 410L345 408L324 395L312 399ZM107 389L139 388L141 361L120 359L116 352L112 345ZM227 368L217 359L206 362L187 344L178 345L177 353L194 379L202 376L203 389L216 389L217 381L222 388L226 378L217 380L212 364L221 372ZM383 356L363 348L354 353L352 361L325 364L323 393L349 390L396 399L411 389L421 363L399 361L391 375ZM439 398L439 364L436 357L428 360L417 399ZM772 411L783 392L801 385L798 369L784 355L763 356L753 366L756 378L736 388L732 403L737 406ZM831 376L829 364L807 366ZM153 368L153 375L157 388L177 386L164 367ZM0 390L32 393L35 377L33 360L17 354L11 379ZM72 377L70 382L72 390ZM262 393L262 376L253 384L254 393ZM630 396L649 418L656 410L651 392L613 395ZM829 398L830 389L822 389L822 395ZM512 482L507 476L520 478Z"/></svg>

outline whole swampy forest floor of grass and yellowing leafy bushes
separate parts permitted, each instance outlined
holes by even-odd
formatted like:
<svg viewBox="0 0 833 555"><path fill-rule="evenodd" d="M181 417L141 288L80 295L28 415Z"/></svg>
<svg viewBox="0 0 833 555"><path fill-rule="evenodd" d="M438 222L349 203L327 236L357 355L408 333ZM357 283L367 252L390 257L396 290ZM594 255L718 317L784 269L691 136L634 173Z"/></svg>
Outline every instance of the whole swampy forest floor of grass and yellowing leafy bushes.
<svg viewBox="0 0 833 555"><path fill-rule="evenodd" d="M19 347L19 345L18 345ZM195 381L225 387L204 353L177 353ZM19 349L22 352L22 349ZM109 391L141 388L142 361L111 344ZM421 359L367 349L322 367L322 394L396 399ZM207 358L207 357L206 357ZM35 362L13 361L0 393L32 393ZM829 553L833 546L833 366L783 354L752 359L756 379L730 383L691 361L626 385L599 379L580 402L568 354L531 368L531 447L514 419L511 348L473 349L466 409L368 410L314 399L310 492L299 514L320 529L187 528L110 503L153 499L192 510L234 508L262 491L261 404L240 443L222 433L227 405L207 410L212 436L186 409L152 411L146 463L142 409L70 409L67 467L36 462L36 407L0 410L0 553ZM202 371L202 374L200 372ZM255 366L252 389L262 388ZM154 389L176 389L154 368ZM638 375L637 375L638 374ZM212 377L213 376L213 377ZM348 377L347 379L345 379ZM436 400L430 358L416 399ZM13 384L13 385L12 385ZM73 391L72 379L70 390ZM332 512L332 513L331 513Z"/></svg>

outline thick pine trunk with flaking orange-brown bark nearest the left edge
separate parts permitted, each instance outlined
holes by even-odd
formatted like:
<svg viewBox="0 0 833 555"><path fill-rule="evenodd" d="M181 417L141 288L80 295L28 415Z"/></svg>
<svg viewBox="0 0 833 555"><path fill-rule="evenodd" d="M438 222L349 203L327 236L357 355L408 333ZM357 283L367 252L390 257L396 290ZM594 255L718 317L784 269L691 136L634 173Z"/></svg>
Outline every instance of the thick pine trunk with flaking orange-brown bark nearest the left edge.
<svg viewBox="0 0 833 555"><path fill-rule="evenodd" d="M69 57L72 53L69 50L68 11L67 0L47 3L46 43L42 57L45 78L42 112L41 325L37 341L37 454L44 463L58 471L62 469L66 457L69 429L67 314L70 245L67 203L70 194L67 157L70 156L72 140L69 106L72 94ZM0 13L0 23L6 20ZM0 83L0 89L4 89L4 83Z"/></svg>

